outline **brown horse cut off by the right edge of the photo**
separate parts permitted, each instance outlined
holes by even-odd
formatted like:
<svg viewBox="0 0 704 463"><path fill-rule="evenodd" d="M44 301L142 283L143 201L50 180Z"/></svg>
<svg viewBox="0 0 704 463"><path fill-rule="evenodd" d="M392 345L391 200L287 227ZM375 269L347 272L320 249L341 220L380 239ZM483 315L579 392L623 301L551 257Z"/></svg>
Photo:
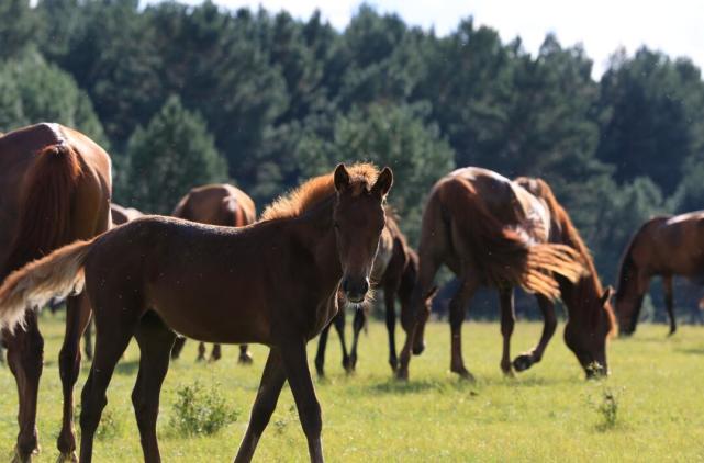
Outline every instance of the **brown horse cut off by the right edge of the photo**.
<svg viewBox="0 0 704 463"><path fill-rule="evenodd" d="M616 314L623 334L630 335L636 330L642 298L650 279L656 275L662 276L670 335L677 331L672 307L672 276L702 280L703 244L704 211L655 217L634 234L621 260L616 290Z"/></svg>

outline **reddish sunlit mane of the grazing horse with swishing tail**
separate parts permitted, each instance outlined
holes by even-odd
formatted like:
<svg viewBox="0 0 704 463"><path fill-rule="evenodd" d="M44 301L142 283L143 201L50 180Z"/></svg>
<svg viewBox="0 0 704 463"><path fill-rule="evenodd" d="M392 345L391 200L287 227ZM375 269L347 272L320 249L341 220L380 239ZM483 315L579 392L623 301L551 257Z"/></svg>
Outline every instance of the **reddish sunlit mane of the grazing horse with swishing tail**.
<svg viewBox="0 0 704 463"><path fill-rule="evenodd" d="M586 244L582 239L581 235L577 230L577 227L572 223L569 214L562 207L562 205L555 197L555 193L550 185L540 178L530 178L530 177L518 177L514 180L519 185L526 188L534 195L543 199L548 208L550 210L550 215L552 215L554 222L556 222L560 227L560 233L562 235L561 241L571 248L573 248L581 257L582 263L585 266L588 273L584 274L577 283L574 283L574 291L577 292L576 296L578 300L584 301L590 296L584 294L589 286L592 286L596 291L596 297L601 297L604 292L601 281L599 280L599 274L596 273L596 267L594 266L594 259L591 251L586 247ZM610 332L614 334L617 329L616 316L611 304L604 304L604 310L608 316L610 321Z"/></svg>

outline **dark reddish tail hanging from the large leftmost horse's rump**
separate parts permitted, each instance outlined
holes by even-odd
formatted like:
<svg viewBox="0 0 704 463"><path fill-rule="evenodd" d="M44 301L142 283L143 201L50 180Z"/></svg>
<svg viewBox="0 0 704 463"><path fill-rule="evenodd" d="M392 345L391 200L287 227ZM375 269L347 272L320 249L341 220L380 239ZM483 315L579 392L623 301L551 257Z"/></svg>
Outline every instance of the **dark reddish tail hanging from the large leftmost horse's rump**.
<svg viewBox="0 0 704 463"><path fill-rule="evenodd" d="M47 146L26 173L19 227L0 281L12 270L71 241L71 204L82 173L66 143Z"/></svg>

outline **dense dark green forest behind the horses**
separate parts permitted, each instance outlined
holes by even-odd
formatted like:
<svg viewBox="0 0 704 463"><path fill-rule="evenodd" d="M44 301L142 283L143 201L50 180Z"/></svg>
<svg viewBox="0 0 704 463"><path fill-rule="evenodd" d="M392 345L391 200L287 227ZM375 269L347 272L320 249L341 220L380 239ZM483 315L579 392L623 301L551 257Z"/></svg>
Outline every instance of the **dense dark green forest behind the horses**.
<svg viewBox="0 0 704 463"><path fill-rule="evenodd" d="M455 167L539 176L606 283L644 221L704 208L691 60L614 50L596 81L581 47L547 35L530 55L471 18L437 36L367 5L338 31L210 2L2 0L0 132L40 121L102 144L115 200L146 212L225 180L261 210L338 161L390 165L412 242L425 193Z"/></svg>

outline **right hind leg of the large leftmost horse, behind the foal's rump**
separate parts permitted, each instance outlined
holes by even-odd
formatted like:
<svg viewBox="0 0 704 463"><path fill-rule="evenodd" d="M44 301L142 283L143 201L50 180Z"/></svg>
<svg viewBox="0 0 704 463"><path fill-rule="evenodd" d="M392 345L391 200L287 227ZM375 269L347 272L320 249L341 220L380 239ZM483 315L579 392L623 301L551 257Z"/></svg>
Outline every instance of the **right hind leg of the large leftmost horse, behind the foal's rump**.
<svg viewBox="0 0 704 463"><path fill-rule="evenodd" d="M58 355L64 394L62 431L56 440L60 452L59 462L78 461L74 431L74 386L80 371L80 335L90 327L90 303L85 293L66 301L66 332Z"/></svg>

